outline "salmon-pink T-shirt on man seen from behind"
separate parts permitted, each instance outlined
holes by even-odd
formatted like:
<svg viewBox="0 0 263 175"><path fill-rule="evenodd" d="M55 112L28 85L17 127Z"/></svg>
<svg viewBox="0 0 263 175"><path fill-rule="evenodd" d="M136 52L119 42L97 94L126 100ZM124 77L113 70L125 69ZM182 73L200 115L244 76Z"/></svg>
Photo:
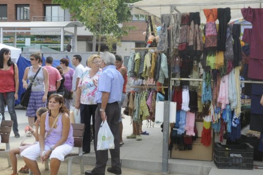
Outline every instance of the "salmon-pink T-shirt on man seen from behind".
<svg viewBox="0 0 263 175"><path fill-rule="evenodd" d="M52 66L44 66L48 70L49 73L49 92L57 90L57 81L62 80L62 76L59 71Z"/></svg>

